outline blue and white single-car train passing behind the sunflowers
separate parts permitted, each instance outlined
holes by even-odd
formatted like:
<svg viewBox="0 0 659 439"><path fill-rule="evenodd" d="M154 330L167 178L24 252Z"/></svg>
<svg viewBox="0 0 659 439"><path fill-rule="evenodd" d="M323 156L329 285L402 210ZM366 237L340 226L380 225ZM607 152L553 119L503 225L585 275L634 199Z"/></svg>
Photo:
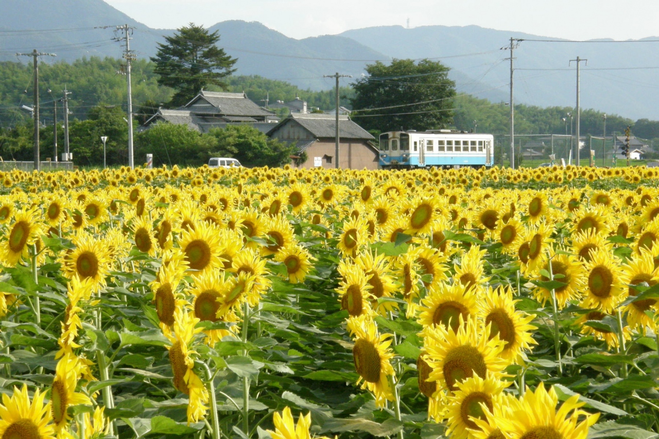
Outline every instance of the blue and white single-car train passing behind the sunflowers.
<svg viewBox="0 0 659 439"><path fill-rule="evenodd" d="M426 166L490 167L494 136L455 130L389 131L380 134L383 169Z"/></svg>

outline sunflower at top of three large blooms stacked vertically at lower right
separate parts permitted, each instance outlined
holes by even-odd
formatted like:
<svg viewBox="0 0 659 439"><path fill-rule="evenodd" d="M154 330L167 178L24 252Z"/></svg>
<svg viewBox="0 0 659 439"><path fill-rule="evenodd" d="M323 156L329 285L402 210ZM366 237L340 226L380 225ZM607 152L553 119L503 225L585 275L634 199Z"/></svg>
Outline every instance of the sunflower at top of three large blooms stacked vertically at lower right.
<svg viewBox="0 0 659 439"><path fill-rule="evenodd" d="M440 283L421 300L418 322L424 328L444 326L457 331L460 322L467 324L476 316L476 291L461 283ZM461 318L459 318L461 316Z"/></svg>

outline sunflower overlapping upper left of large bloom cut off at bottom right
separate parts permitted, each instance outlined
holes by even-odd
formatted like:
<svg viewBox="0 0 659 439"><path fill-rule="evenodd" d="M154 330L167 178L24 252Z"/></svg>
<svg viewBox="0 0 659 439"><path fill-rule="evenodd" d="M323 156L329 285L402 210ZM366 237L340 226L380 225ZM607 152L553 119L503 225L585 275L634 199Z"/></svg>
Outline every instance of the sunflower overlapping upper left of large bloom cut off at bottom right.
<svg viewBox="0 0 659 439"><path fill-rule="evenodd" d="M501 393L509 386L486 374L485 378L474 375L456 384L457 390L446 398L446 434L453 439L471 438L471 430L479 430L475 419L486 420L486 411L492 412L501 404Z"/></svg>

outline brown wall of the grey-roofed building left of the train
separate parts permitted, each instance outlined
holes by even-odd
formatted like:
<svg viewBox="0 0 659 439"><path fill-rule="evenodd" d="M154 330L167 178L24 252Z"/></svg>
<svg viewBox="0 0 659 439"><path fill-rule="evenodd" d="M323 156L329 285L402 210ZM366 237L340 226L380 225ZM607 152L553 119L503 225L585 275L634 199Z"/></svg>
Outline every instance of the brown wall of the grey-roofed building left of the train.
<svg viewBox="0 0 659 439"><path fill-rule="evenodd" d="M322 158L322 167L334 168L335 142L318 140L306 148L306 160L300 167L310 169L314 167L314 158ZM368 146L366 140L352 140L339 144L339 167L349 169L378 169L378 152Z"/></svg>

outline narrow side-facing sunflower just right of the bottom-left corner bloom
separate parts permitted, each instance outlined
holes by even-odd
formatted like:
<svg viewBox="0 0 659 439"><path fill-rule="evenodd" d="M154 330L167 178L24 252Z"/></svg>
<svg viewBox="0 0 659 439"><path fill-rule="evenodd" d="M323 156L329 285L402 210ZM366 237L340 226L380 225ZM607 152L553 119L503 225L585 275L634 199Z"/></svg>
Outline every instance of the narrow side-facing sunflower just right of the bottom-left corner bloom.
<svg viewBox="0 0 659 439"><path fill-rule="evenodd" d="M57 437L65 436L63 429L67 428L71 416L69 407L78 404L92 405L88 396L76 392L78 376L76 368L78 358L72 353L66 353L57 362L55 378L51 386L50 411Z"/></svg>

